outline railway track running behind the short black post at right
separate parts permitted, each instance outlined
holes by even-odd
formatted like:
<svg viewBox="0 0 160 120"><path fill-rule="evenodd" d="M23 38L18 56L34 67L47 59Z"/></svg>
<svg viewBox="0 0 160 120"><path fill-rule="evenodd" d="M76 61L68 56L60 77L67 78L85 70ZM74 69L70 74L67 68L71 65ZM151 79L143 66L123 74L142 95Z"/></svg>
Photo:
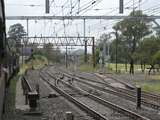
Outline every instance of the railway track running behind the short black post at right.
<svg viewBox="0 0 160 120"><path fill-rule="evenodd" d="M106 93L110 93L110 94L113 94L113 95L116 95L116 96L119 96L119 97L122 97L126 100L130 100L132 102L136 102L136 92L132 91L130 92L131 90L126 90L126 89L122 89L122 88L115 88L105 82L100 82L100 81L96 81L96 80L91 80L91 79L88 79L88 78L84 78L82 76L73 76L72 74L69 74L67 72L63 72L61 73L63 74L64 76L66 77L70 77L70 78L74 78L74 80L78 81L78 82L81 82L83 84L87 84L91 87L94 87L100 91L103 91L103 92L106 92ZM86 82L89 81L89 82ZM101 84L101 85L104 85L106 87L108 87L109 89L105 89L104 87L100 87L99 85L95 85L95 84L91 84L91 82L95 82L95 83L98 83L98 84ZM129 91L129 92L128 92ZM142 100L141 100L141 103L142 105L146 106L146 107L149 107L149 108L152 108L152 109L156 109L156 110L160 110L160 105L157 103L157 101L155 101L156 98L146 98L143 96L142 94Z"/></svg>

